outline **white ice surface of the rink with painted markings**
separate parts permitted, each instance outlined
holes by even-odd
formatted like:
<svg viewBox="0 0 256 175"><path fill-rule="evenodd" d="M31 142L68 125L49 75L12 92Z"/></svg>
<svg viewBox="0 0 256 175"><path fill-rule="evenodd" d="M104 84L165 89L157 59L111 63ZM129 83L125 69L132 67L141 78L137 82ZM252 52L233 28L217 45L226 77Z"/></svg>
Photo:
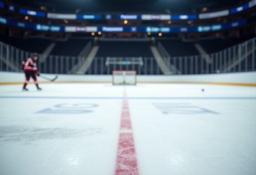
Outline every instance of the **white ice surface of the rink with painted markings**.
<svg viewBox="0 0 256 175"><path fill-rule="evenodd" d="M0 86L0 175L256 175L255 87L41 86Z"/></svg>

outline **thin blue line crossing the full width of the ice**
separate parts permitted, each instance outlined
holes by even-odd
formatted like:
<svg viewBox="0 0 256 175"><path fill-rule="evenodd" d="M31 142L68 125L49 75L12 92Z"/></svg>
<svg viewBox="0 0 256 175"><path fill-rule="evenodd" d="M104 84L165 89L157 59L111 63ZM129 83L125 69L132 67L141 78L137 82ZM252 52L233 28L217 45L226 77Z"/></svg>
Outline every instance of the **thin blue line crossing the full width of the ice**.
<svg viewBox="0 0 256 175"><path fill-rule="evenodd" d="M27 99L128 99L128 100L256 100L256 97L50 97L50 96L0 96L0 98Z"/></svg>

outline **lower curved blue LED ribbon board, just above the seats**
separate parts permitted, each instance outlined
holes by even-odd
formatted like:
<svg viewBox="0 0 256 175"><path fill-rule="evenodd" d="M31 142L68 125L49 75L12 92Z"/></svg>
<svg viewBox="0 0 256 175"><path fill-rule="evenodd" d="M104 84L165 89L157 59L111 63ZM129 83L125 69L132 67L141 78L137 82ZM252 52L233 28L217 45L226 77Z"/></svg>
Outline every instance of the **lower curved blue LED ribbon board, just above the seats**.
<svg viewBox="0 0 256 175"><path fill-rule="evenodd" d="M48 26L43 24L9 20L0 16L0 24L37 31L51 32L152 32L152 33L178 33L178 32L209 32L230 29L246 25L246 20L209 26L184 26L184 27L152 27L152 26Z"/></svg>

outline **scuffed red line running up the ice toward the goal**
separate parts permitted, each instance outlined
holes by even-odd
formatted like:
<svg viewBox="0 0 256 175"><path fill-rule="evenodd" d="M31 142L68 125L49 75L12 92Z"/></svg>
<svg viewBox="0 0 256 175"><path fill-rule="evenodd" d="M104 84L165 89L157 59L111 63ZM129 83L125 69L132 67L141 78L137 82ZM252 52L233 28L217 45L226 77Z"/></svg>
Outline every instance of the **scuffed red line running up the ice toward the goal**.
<svg viewBox="0 0 256 175"><path fill-rule="evenodd" d="M124 97L126 93L124 91ZM139 175L128 101L123 100L115 175Z"/></svg>

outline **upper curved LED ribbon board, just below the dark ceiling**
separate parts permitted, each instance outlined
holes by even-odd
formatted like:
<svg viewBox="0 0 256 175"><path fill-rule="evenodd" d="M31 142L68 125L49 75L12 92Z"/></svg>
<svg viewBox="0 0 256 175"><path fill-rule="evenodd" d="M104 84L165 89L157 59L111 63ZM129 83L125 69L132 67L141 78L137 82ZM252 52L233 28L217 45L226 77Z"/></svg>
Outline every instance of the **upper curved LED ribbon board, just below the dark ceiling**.
<svg viewBox="0 0 256 175"><path fill-rule="evenodd" d="M251 0L248 3L243 5L236 6L235 8L219 10L209 13L200 13L200 14L192 14L192 15L154 15L154 14L143 14L143 15L134 15L134 14L121 14L115 15L115 19L117 20L145 20L145 21L168 21L168 20L196 20L196 19L210 19L217 18L222 16L227 16L230 14L239 13L241 11L250 9L256 5L256 0ZM5 3L0 1L0 8L4 8ZM15 6L11 4L7 4L6 9L10 11L15 11ZM114 15L106 14L106 15L77 15L77 14L61 14L61 13L46 13L44 11L36 11L29 9L19 9L20 14L23 15L31 15L37 17L46 17L49 19L61 19L61 20L112 20L114 19Z"/></svg>

